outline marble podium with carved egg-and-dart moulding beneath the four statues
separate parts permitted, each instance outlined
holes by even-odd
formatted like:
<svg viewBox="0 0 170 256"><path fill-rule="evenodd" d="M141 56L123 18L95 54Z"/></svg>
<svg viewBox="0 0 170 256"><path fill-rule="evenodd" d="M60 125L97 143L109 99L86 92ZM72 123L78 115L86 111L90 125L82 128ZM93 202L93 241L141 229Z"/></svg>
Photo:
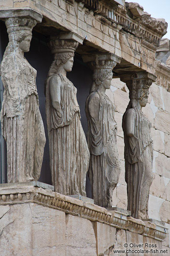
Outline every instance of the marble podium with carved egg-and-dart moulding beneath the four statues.
<svg viewBox="0 0 170 256"><path fill-rule="evenodd" d="M146 240L155 238L152 242L157 244L160 243L156 240L165 238L160 225L132 217L126 219L124 213L117 208L111 214L100 206L40 187L1 188L0 253L114 256L114 248L124 249L127 229L133 237L142 234Z"/></svg>

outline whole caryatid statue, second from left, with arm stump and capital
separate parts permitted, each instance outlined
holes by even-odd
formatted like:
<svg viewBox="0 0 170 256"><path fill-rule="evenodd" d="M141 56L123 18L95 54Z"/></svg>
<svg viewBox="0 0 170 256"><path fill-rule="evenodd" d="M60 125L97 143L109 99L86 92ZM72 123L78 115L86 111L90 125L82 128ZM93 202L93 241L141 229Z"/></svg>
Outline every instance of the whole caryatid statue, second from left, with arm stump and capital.
<svg viewBox="0 0 170 256"><path fill-rule="evenodd" d="M66 77L72 70L78 42L51 38L54 60L46 81L46 115L54 190L86 196L89 149L80 121L77 88Z"/></svg>

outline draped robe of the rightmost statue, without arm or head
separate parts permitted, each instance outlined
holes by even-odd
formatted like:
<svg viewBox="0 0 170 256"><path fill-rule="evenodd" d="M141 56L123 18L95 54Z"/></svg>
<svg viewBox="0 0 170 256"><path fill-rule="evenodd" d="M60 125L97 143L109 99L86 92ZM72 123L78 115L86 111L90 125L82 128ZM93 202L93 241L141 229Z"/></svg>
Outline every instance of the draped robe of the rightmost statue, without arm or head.
<svg viewBox="0 0 170 256"><path fill-rule="evenodd" d="M127 136L128 114L135 120L134 136ZM125 141L125 180L128 191L128 210L134 218L148 217L149 189L153 181L153 140L151 124L142 111L128 109L123 116Z"/></svg>

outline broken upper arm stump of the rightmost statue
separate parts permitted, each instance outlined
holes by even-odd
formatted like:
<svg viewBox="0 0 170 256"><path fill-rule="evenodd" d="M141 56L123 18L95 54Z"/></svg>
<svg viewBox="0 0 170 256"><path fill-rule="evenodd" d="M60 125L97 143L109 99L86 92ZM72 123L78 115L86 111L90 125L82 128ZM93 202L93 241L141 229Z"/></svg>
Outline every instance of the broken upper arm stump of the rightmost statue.
<svg viewBox="0 0 170 256"><path fill-rule="evenodd" d="M135 133L135 118L136 118L135 111L133 109L130 109L126 114L126 120L125 120L126 135L129 137L134 136L134 133Z"/></svg>

